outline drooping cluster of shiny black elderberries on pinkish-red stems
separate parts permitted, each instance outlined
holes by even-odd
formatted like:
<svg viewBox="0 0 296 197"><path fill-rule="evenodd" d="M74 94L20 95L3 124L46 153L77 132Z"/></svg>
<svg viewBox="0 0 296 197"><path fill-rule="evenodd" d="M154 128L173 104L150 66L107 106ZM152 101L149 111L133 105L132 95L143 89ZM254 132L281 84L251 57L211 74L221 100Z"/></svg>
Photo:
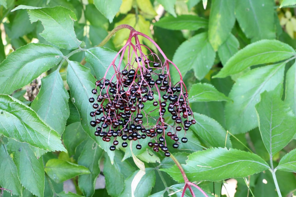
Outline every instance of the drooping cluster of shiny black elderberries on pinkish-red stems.
<svg viewBox="0 0 296 197"><path fill-rule="evenodd" d="M118 139L123 141L120 143L123 147L128 146L126 141L137 141L136 149L141 149L141 139L149 137L148 146L169 157L166 140L172 140L173 148L178 148L181 142L188 141L178 132L185 130L186 133L196 123L189 107L187 89L179 69L159 46L147 35L129 29L126 44L110 63L104 77L96 81L96 88L91 90L89 102L94 110L90 112L93 117L90 125L94 127L95 136L106 142L112 139L110 150L116 149ZM158 51L139 43L138 36L146 38ZM118 56L120 61L115 64ZM123 62L124 56L127 57L126 63ZM180 74L179 81L174 84L170 66ZM115 74L107 79L110 69L114 69Z"/></svg>

